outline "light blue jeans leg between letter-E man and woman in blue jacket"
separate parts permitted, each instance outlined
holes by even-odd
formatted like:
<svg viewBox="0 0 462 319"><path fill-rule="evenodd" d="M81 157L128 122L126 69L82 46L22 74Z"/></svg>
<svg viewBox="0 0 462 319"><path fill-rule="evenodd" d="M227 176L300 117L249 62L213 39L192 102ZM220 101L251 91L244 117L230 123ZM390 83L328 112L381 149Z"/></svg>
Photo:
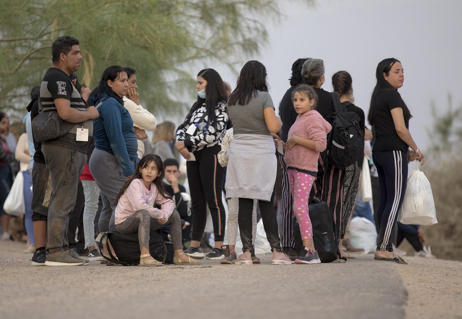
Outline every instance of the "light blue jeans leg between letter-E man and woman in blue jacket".
<svg viewBox="0 0 462 319"><path fill-rule="evenodd" d="M93 180L82 180L85 195L85 208L83 214L85 248L96 246L94 241L94 216L98 210L98 199L100 189L97 182Z"/></svg>

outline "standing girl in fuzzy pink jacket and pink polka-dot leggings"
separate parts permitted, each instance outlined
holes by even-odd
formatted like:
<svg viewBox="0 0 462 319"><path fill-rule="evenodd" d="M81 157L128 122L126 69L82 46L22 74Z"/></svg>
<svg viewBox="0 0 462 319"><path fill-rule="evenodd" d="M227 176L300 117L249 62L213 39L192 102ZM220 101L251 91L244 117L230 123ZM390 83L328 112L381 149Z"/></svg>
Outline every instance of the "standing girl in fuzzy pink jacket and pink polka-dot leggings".
<svg viewBox="0 0 462 319"><path fill-rule="evenodd" d="M284 160L305 251L305 255L295 259L295 264L319 264L321 260L314 248L313 228L308 215L308 198L318 171L319 153L324 151L326 137L332 127L315 110L317 96L310 86L297 87L292 93L292 100L298 116L288 132Z"/></svg>

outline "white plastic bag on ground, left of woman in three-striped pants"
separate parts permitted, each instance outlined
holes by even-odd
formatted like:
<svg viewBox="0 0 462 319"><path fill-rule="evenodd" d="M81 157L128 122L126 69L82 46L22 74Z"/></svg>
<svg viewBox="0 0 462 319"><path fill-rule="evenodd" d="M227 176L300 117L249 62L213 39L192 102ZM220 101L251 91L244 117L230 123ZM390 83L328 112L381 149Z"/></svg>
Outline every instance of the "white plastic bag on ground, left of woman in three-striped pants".
<svg viewBox="0 0 462 319"><path fill-rule="evenodd" d="M364 217L353 217L350 221L350 243L354 248L363 249L364 254L373 253L377 248L374 223Z"/></svg>

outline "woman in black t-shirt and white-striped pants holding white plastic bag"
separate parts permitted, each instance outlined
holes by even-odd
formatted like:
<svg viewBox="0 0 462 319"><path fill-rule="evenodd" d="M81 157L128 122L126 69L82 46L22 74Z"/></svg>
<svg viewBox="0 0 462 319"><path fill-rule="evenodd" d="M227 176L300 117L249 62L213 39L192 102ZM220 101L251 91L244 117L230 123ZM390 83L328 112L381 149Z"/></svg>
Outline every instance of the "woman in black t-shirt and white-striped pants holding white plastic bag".
<svg viewBox="0 0 462 319"><path fill-rule="evenodd" d="M380 233L374 258L407 264L393 251L390 235L406 191L408 161L417 159L423 165L425 158L409 133L411 112L397 91L404 82L401 63L394 58L381 61L376 78L368 114L368 121L375 129L372 159L380 186L377 210Z"/></svg>

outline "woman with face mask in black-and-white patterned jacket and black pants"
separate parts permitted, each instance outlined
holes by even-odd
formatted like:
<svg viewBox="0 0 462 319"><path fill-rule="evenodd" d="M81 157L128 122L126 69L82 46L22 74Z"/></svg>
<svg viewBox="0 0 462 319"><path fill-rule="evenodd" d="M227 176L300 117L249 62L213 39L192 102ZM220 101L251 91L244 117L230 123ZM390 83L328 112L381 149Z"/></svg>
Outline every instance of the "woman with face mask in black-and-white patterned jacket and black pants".
<svg viewBox="0 0 462 319"><path fill-rule="evenodd" d="M178 127L175 143L178 152L187 160L192 200L192 240L185 253L192 258L204 258L199 247L208 205L214 226L215 249L206 257L221 259L226 216L221 199L224 169L218 163L217 154L228 122L226 89L220 74L214 69L204 69L197 74L196 88L197 101Z"/></svg>

